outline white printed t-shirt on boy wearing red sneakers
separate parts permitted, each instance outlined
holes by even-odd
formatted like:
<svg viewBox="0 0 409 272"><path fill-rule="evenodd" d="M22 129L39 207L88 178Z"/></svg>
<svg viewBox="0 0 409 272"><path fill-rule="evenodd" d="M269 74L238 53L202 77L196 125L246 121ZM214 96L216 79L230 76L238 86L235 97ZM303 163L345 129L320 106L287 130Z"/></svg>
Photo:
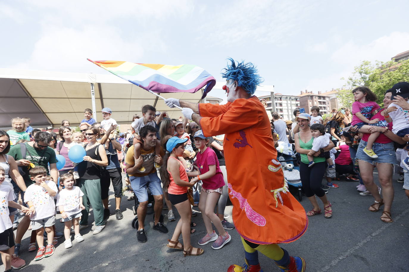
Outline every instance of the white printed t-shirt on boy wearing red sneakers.
<svg viewBox="0 0 409 272"><path fill-rule="evenodd" d="M49 188L58 192L54 181L46 180L45 183ZM30 215L31 220L40 220L55 215L54 197L50 196L47 190L40 185L31 184L28 186L24 194L24 201L33 201L34 209L36 209L34 215Z"/></svg>

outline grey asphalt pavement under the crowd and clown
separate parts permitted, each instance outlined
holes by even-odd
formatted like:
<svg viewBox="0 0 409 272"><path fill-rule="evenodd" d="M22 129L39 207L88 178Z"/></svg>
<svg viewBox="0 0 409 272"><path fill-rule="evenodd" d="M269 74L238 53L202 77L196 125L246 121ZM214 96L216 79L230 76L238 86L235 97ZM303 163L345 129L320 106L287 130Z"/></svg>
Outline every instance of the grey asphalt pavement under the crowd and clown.
<svg viewBox="0 0 409 272"><path fill-rule="evenodd" d="M375 173L375 182L378 176ZM330 188L327 197L333 204L333 217L324 218L324 214L309 217L307 232L297 241L282 244L290 255L306 259L306 271L409 271L409 200L394 176L395 200L392 207L393 223L380 220L381 212L370 212L373 197L361 196L356 190L357 182L337 181L339 188ZM106 228L93 235L94 226L81 231L85 241L73 241L72 248L64 248L64 237L58 239L55 253L48 258L34 261L36 252L28 252L29 233L27 232L20 250L20 257L26 261L26 267L20 271L166 271L166 272L225 272L231 264L244 263L244 249L236 230L229 230L231 241L220 250L213 250L211 243L202 246L205 253L198 257L183 257L181 250L166 248L177 221L168 222L166 210L165 224L169 233L153 230L152 216L146 217L145 229L148 241L139 243L136 230L131 227L134 219L132 207L134 201L122 198L124 219L116 220L111 215ZM110 201L115 202L112 187ZM306 210L312 206L306 197L301 204ZM322 203L321 203L321 208ZM232 206L226 207L231 215ZM113 214L115 207L110 206ZM151 209L150 209L151 210ZM195 210L198 210L195 208ZM179 215L174 209L176 219ZM61 215L56 215L56 228L63 231ZM91 212L90 222L93 216ZM227 219L232 222L231 216ZM206 230L201 215L193 217L196 232L191 235L194 246L205 235ZM182 237L180 237L182 241ZM267 257L259 254L263 271L279 271ZM2 267L4 268L4 267ZM0 269L2 269L0 268Z"/></svg>

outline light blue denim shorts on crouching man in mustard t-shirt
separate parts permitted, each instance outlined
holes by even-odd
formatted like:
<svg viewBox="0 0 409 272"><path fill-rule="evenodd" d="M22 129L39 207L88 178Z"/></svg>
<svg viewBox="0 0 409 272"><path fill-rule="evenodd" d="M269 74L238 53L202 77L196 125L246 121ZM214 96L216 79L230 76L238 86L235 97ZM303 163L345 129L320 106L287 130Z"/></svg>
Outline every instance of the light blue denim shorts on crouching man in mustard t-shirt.
<svg viewBox="0 0 409 272"><path fill-rule="evenodd" d="M129 181L139 202L148 201L146 186L151 190L152 195L163 195L162 187L160 186L161 181L156 172L143 177L130 176Z"/></svg>

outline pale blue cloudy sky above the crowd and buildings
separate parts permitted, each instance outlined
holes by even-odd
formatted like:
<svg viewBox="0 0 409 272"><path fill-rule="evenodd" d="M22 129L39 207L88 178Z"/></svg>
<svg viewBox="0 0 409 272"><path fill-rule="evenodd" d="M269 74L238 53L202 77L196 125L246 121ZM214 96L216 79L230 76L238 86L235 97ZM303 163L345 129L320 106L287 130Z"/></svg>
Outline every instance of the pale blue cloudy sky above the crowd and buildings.
<svg viewBox="0 0 409 272"><path fill-rule="evenodd" d="M2 1L0 68L108 73L88 57L196 64L222 81L233 57L277 93L326 91L361 60L409 50L407 10L407 0Z"/></svg>

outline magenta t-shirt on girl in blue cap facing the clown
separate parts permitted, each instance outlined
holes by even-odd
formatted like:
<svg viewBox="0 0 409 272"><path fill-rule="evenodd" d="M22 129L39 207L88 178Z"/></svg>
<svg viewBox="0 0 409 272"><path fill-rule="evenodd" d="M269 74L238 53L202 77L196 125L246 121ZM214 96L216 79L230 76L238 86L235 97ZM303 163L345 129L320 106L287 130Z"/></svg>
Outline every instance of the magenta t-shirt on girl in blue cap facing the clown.
<svg viewBox="0 0 409 272"><path fill-rule="evenodd" d="M209 179L202 179L202 187L204 189L218 189L225 185L225 180L223 179L223 174L219 166L219 160L213 149L208 147L203 153L200 153L199 150L198 155L196 155L196 164L200 174L209 172L209 165L216 165L216 175Z"/></svg>

